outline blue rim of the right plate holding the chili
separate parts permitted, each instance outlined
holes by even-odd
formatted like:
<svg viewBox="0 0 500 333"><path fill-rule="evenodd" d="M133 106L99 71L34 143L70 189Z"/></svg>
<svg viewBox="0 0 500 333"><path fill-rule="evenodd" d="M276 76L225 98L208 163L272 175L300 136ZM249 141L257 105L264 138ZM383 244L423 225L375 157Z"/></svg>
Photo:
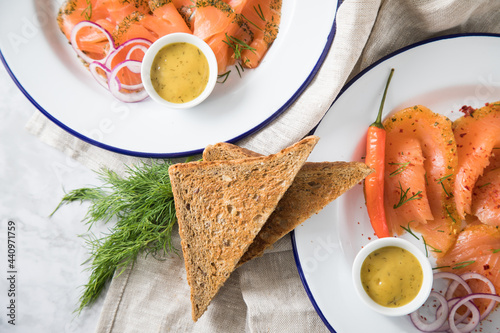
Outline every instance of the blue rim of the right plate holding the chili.
<svg viewBox="0 0 500 333"><path fill-rule="evenodd" d="M363 69L357 75L355 75L348 83L346 83L342 87L342 89L340 90L339 94L337 95L337 97L332 102L331 106L334 105L335 102L340 98L340 96L342 96L342 94L344 94L363 75L365 75L367 72L369 72L373 68L377 67L378 65L382 64L383 62L387 61L388 59L393 58L394 56L396 56L396 55L398 55L400 53L406 52L406 51L408 51L410 49L414 49L416 47L419 47L421 45L425 45L425 44L429 44L429 43L433 43L433 42L438 42L438 41L442 41L442 40L446 40L446 39L455 39L455 38L461 38L461 37L494 37L494 38L500 38L500 34L497 34L497 33L487 33L487 32L484 32L484 33L457 33L457 34L448 34L448 35L443 35L443 36L437 36L437 37L433 37L433 38L428 38L428 39L425 39L425 40L422 40L422 41L419 41L419 42L407 45L405 47L402 47L402 48L400 48L400 49L398 49L398 50L396 50L396 51L394 51L394 52L392 52L392 53L390 53L390 54L388 54L388 55L380 58L379 60L377 60L376 62L374 62L370 66L368 66L365 69ZM331 106L330 106L330 108L331 108ZM326 114L325 114L325 116L326 116ZM323 116L323 119L324 119L324 116ZM314 134L314 132L316 131L316 129L318 128L318 126L320 124L321 124L321 121L311 131L311 134ZM295 265L297 266L297 271L299 273L299 277L300 277L302 285L303 285L303 287L304 287L304 289L306 291L306 294L307 294L309 300L311 301L314 309L316 310L317 314L319 315L319 317L321 318L321 320L323 321L323 323L327 327L327 329L330 332L332 332L332 333L337 333L337 331L335 331L335 329L333 328L332 324L330 324L330 322L326 319L325 315L321 311L321 308L319 307L319 305L317 304L316 300L314 299L314 296L313 296L313 294L311 292L309 284L307 283L307 279L305 278L304 271L303 271L302 265L300 263L299 254L297 252L297 244L296 244L296 239L295 239L295 230L292 230L292 232L290 233L290 235L291 235L292 250L293 250L293 257L294 257L294 260L295 260Z"/></svg>

